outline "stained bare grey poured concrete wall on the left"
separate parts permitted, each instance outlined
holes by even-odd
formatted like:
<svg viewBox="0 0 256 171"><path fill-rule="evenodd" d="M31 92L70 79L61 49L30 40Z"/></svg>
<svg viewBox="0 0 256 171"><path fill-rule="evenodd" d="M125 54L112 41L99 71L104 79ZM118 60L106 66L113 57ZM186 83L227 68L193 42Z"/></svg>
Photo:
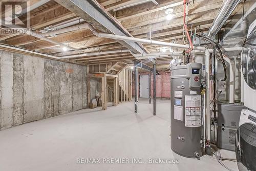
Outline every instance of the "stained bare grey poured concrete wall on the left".
<svg viewBox="0 0 256 171"><path fill-rule="evenodd" d="M86 66L0 51L0 130L87 108Z"/></svg>

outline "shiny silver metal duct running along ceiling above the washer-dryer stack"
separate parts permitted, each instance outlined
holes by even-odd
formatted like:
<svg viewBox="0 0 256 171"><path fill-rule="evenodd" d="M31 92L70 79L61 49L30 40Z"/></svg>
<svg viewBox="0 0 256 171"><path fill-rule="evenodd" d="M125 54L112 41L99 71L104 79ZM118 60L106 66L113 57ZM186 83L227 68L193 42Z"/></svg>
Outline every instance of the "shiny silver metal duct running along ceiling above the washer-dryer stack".
<svg viewBox="0 0 256 171"><path fill-rule="evenodd" d="M222 3L222 6L214 19L214 22L212 23L209 32L207 34L207 37L210 39L214 38L217 33L220 31L222 26L225 24L228 17L231 15L233 10L238 6L238 4L242 0L224 0Z"/></svg>

